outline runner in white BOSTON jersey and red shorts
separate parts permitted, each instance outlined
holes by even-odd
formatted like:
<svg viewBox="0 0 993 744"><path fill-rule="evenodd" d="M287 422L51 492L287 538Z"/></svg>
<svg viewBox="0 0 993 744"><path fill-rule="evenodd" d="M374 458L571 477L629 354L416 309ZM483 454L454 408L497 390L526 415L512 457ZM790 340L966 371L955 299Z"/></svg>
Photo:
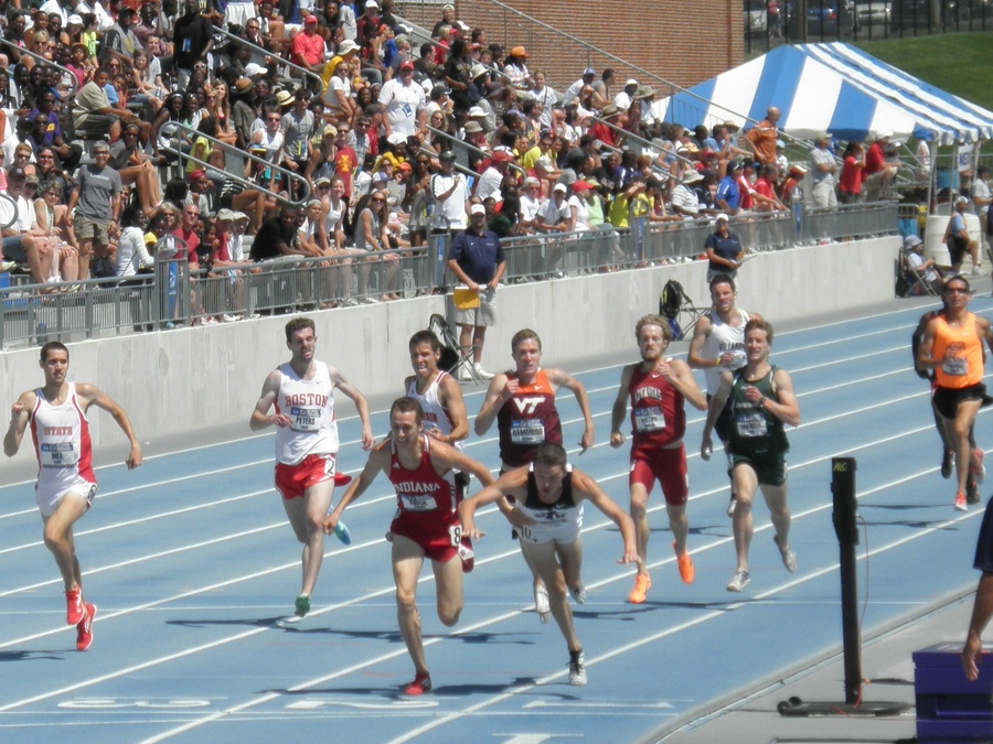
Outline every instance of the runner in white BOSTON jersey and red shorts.
<svg viewBox="0 0 993 744"><path fill-rule="evenodd" d="M313 358L313 321L296 317L287 323L286 345L290 360L266 377L248 425L252 431L276 427L276 489L303 544L303 575L295 603L297 616L303 617L310 612L310 597L324 559L321 522L331 506L335 483L335 388L355 402L362 421L362 448L371 450L375 439L365 396L340 370Z"/></svg>

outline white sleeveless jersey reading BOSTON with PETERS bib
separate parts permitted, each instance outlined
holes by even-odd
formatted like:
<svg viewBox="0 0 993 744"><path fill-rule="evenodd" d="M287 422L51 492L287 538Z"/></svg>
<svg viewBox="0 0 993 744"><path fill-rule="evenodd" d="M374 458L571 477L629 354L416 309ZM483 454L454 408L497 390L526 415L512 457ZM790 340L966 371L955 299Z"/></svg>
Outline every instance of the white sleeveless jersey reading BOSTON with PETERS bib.
<svg viewBox="0 0 993 744"><path fill-rule="evenodd" d="M276 429L276 462L296 465L310 454L338 454L334 385L323 362L313 363L313 379L305 380L287 364L279 365L276 412L290 418Z"/></svg>

